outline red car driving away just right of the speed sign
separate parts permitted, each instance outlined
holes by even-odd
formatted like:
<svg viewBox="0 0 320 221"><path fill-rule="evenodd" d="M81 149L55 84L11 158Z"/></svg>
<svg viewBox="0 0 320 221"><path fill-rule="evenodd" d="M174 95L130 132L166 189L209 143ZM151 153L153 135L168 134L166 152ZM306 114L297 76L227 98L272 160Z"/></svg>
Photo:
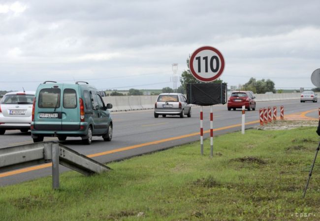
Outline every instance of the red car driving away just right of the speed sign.
<svg viewBox="0 0 320 221"><path fill-rule="evenodd" d="M248 111L251 109L253 111L256 110L256 101L254 97L249 91L233 91L228 99L228 111L233 109L235 111L236 108L242 108L245 106Z"/></svg>

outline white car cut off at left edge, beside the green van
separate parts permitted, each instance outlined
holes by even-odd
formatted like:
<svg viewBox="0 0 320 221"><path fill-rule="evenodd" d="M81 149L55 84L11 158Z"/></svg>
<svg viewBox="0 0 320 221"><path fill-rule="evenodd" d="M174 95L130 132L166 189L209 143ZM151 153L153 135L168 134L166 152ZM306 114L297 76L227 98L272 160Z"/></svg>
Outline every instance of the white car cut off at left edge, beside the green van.
<svg viewBox="0 0 320 221"><path fill-rule="evenodd" d="M6 130L28 132L32 121L34 91L9 92L0 101L0 135Z"/></svg>

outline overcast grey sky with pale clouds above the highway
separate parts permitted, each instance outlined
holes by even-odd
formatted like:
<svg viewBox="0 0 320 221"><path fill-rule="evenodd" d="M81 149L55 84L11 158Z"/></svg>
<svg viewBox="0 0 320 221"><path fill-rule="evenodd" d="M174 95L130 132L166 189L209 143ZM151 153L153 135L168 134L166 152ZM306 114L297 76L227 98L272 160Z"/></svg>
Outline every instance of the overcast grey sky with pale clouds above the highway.
<svg viewBox="0 0 320 221"><path fill-rule="evenodd" d="M45 80L172 88L172 64L181 75L204 45L223 53L228 86L255 77L313 88L319 9L319 0L0 0L0 90Z"/></svg>

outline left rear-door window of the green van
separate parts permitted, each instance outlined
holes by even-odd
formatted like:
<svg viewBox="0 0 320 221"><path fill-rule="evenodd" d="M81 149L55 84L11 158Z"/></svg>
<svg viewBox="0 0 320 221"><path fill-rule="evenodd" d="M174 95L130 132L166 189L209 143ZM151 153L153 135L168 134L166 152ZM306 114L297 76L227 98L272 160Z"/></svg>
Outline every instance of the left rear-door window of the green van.
<svg viewBox="0 0 320 221"><path fill-rule="evenodd" d="M60 108L60 89L46 88L39 93L39 108Z"/></svg>

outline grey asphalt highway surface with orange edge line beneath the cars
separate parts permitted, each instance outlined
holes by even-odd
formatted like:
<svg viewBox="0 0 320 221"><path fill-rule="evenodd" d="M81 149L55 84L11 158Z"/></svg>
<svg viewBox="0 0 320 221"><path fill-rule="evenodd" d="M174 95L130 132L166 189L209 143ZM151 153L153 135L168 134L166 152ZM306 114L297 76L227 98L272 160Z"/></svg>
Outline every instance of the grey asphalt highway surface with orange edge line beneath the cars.
<svg viewBox="0 0 320 221"><path fill-rule="evenodd" d="M300 103L299 100L257 102L256 111L246 111L246 129L259 125L259 109L264 107L285 108L285 118L288 114L304 111L306 116L318 118L318 103ZM210 107L203 108L204 137L209 136ZM134 155L174 147L177 145L198 141L200 107L192 107L192 117L180 118L179 116L167 116L154 118L153 110L113 112L114 122L113 138L111 142L104 142L101 137L94 137L90 146L83 145L80 138L67 138L61 142L64 146L88 155L93 159L107 163ZM214 136L241 130L241 110L227 111L226 105L216 105L213 108ZM45 141L58 141L57 138L45 138ZM31 134L21 133L18 130L6 131L0 135L0 148L13 147L33 143ZM205 154L210 153L210 147L204 147ZM200 153L200 144L199 144ZM66 169L61 166L61 171ZM51 175L49 165L42 169L30 167L26 171L16 170L11 173L0 174L0 186L16 184L39 177Z"/></svg>

